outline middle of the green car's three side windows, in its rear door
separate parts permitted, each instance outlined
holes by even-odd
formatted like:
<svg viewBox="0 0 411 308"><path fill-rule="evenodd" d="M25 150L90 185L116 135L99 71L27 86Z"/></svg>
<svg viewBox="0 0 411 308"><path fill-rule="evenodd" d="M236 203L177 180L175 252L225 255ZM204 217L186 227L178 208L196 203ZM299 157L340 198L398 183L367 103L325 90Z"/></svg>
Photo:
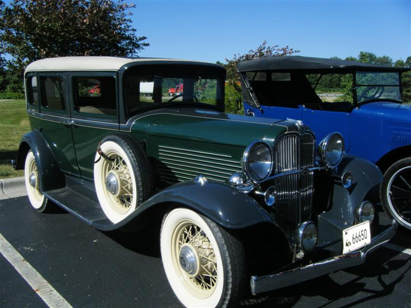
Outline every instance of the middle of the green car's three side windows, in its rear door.
<svg viewBox="0 0 411 308"><path fill-rule="evenodd" d="M42 108L66 110L65 85L62 76L40 76Z"/></svg>

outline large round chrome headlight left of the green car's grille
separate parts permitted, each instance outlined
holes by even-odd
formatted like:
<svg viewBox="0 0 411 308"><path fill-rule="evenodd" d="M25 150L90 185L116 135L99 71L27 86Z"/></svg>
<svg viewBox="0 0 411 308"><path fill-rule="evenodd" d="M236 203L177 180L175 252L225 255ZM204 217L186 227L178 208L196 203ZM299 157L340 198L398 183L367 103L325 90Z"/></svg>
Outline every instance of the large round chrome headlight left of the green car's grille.
<svg viewBox="0 0 411 308"><path fill-rule="evenodd" d="M242 158L246 175L254 182L264 181L273 169L273 156L267 142L257 141L250 144Z"/></svg>

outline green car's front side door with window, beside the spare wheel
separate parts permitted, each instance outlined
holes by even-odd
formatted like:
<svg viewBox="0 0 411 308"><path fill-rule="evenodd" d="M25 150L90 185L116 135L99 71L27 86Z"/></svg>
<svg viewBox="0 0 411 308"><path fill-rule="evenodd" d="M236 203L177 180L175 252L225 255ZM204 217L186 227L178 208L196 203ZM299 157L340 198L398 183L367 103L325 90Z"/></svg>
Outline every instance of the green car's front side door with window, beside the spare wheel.
<svg viewBox="0 0 411 308"><path fill-rule="evenodd" d="M71 127L82 178L94 179L99 142L119 131L117 74L70 73Z"/></svg>

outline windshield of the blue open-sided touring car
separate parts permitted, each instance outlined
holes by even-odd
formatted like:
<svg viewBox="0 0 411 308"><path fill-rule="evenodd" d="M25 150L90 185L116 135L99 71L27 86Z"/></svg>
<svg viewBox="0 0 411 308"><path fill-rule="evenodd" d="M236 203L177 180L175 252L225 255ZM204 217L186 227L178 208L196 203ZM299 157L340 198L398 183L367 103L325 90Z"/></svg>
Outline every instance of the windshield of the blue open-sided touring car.
<svg viewBox="0 0 411 308"><path fill-rule="evenodd" d="M357 102L389 99L401 102L399 73L357 72Z"/></svg>

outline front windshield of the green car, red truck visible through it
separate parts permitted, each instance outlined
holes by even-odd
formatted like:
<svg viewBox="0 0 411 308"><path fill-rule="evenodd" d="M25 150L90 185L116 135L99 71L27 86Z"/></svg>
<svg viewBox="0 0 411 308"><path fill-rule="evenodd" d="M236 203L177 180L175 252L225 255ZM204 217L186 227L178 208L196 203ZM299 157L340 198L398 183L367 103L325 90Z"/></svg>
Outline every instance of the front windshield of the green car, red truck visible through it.
<svg viewBox="0 0 411 308"><path fill-rule="evenodd" d="M128 114L156 106L207 104L219 106L223 100L223 77L204 71L139 69L124 78ZM170 72L169 72L170 71ZM175 70L177 71L177 70Z"/></svg>

